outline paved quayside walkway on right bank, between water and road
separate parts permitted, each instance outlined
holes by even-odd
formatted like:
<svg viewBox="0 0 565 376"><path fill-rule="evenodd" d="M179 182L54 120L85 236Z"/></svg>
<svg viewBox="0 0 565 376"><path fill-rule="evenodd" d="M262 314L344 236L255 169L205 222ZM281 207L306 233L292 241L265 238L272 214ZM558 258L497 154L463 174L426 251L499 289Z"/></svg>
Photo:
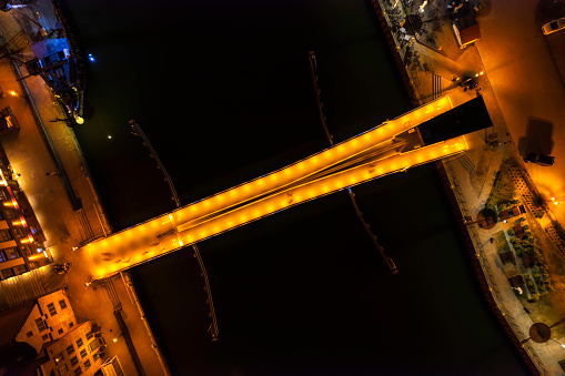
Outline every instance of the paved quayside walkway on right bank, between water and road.
<svg viewBox="0 0 565 376"><path fill-rule="evenodd" d="M476 217L476 214L485 205L496 172L502 167L503 160L511 155L518 156L517 148L512 142L511 132L497 102L496 88L493 90L491 85L488 72L483 65L480 51L474 44L461 50L453 42L455 37L451 29L451 22L445 17L447 8L444 1L433 2L432 6L428 4L424 8L423 13L420 13L423 20L434 21L425 26L427 38L420 37L418 40L415 39L413 42L410 42L410 40L415 34L411 28L404 28L404 31L401 31L398 24L402 23L402 20L406 20L404 22L406 24L407 14L414 12L414 10L417 11L423 1L404 1L407 3L406 8L402 7L402 0L394 8L395 0L374 0L373 2L379 3L379 7L376 7L377 11L383 11L382 16L379 13L377 16L384 18L390 26L394 47L400 55L400 59L396 59L396 61L402 61L400 69L404 70L410 77L411 84L420 103L428 102L442 94L448 94L454 105L466 102L477 93L473 90L463 91L453 80L463 75L474 77L476 73L483 72L483 74L476 78L476 81L481 88L480 94L483 95L491 114L494 129L486 132L476 132L468 138L471 151L465 154L464 161L455 159L446 162L451 166L447 171L451 171L460 182L458 186L464 196L460 201L460 205L466 206L470 214ZM481 17L492 17L490 16L490 1L487 6ZM405 35L408 35L408 38L405 38ZM448 41L450 39L451 42ZM408 57L406 58L406 55ZM511 141L511 143L504 146L496 146L495 149L486 144L494 140L496 144L507 141ZM535 221L533 217L529 217L529 220ZM533 322L508 283L497 254L496 245L490 242L490 238L495 233L506 230L505 226L507 225L497 223L490 230L478 228L476 224L473 226L476 227L478 235L478 244L476 246L481 250L477 250L477 253L481 251L487 260L485 266L490 270L488 274L492 275L491 282L495 289L493 296L498 303L501 311L512 316L506 317L513 325L516 325L514 332L518 339L527 339ZM559 338L554 339L563 343ZM532 355L534 359L536 356L538 357L543 365L541 367L543 373L547 375L565 375L562 367L557 364L557 362L565 358L565 349L558 343L536 344L529 341L524 346L525 348L527 347L528 353L534 354Z"/></svg>

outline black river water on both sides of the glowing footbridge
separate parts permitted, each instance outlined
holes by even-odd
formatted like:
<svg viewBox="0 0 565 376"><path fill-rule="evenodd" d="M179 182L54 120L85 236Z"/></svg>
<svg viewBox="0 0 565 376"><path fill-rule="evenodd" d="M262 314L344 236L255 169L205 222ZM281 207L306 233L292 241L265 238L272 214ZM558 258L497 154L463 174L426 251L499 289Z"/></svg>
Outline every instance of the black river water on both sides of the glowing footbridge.
<svg viewBox="0 0 565 376"><path fill-rule="evenodd" d="M172 210L137 120L183 204L410 110L363 0L67 0L95 62L77 135L114 230ZM111 139L109 138L111 136ZM477 288L434 165L344 192L132 270L174 375L527 374Z"/></svg>

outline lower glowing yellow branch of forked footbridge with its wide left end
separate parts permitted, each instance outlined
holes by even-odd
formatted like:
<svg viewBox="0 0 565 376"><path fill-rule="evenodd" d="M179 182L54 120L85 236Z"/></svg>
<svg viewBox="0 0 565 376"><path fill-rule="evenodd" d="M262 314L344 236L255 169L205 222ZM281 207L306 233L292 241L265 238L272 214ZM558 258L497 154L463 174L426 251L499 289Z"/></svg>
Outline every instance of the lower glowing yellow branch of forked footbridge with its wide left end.
<svg viewBox="0 0 565 376"><path fill-rule="evenodd" d="M94 278L112 275L121 270L233 230L278 211L337 192L347 186L403 171L411 166L461 153L467 149L465 138L458 136L407 153L374 161L249 203L245 206L234 209L229 213L219 215L181 233L175 232L171 221L163 221L161 217L147 222L128 230L119 237L114 235L104 241L87 245L84 248L91 254L94 262L92 275L95 276ZM162 232L163 226L169 230ZM140 227L145 227L145 230ZM135 234L142 231L152 233L151 244L135 238Z"/></svg>

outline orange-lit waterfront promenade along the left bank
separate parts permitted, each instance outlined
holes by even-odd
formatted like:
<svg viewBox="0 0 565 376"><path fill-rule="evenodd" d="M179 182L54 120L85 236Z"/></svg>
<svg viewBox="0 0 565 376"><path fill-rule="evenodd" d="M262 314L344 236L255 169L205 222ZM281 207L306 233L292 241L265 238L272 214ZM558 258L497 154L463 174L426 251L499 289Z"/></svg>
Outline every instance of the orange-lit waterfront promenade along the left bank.
<svg viewBox="0 0 565 376"><path fill-rule="evenodd" d="M49 1L34 6L48 32L60 27L49 6ZM157 344L149 337L139 307L123 281L118 277L84 286L88 262L74 250L105 236L111 227L104 220L74 133L63 121L65 114L52 91L39 75L18 79L18 70L22 77L28 75L26 67L18 61L33 55L22 29L9 12L0 12L0 28L4 45L11 41L10 47L18 48L12 59L10 55L0 59L0 87L4 92L0 106L10 105L20 124L18 134L2 140L2 148L41 223L47 237L44 245L53 254L54 263L72 263L64 275L56 275L48 265L9 283L2 282L0 309L37 298L38 294L65 288L77 318L92 319L101 327L108 356L118 355L127 375L165 374ZM73 202L74 199L78 201ZM34 281L28 284L26 278ZM118 342L113 343L112 338L117 337Z"/></svg>

